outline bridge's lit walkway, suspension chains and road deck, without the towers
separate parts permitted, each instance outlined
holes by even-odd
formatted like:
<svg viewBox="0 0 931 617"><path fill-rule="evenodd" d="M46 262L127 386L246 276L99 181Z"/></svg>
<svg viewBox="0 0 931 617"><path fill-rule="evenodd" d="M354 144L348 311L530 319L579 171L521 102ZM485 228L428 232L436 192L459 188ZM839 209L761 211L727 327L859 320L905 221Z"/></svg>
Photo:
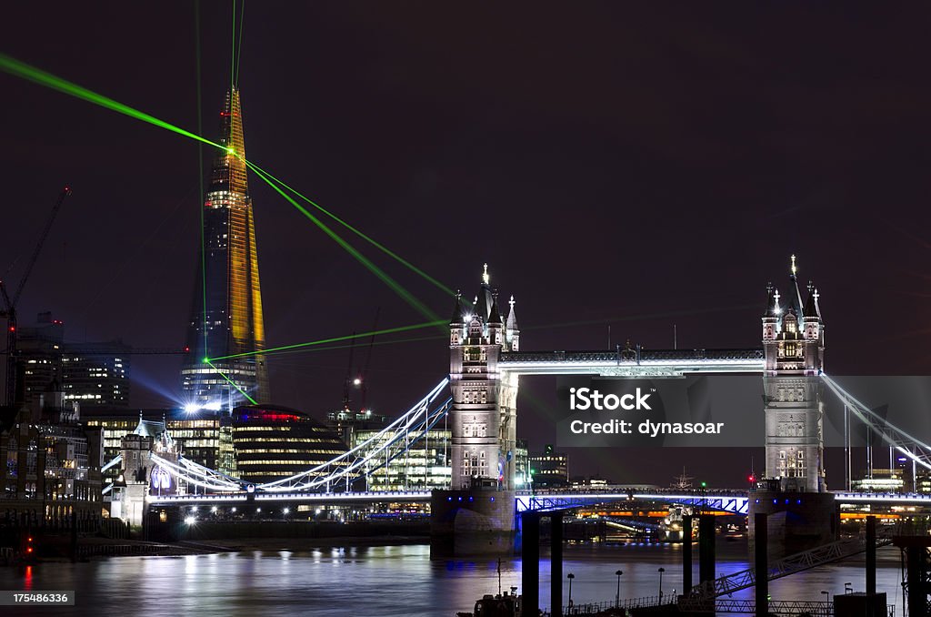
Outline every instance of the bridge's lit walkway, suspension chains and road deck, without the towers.
<svg viewBox="0 0 931 617"><path fill-rule="evenodd" d="M559 374L596 371L604 375L615 369L625 375L649 371L651 374L682 374L702 370L721 372L733 370L745 372L761 370L760 350L676 350L614 352L563 352L547 353L507 352L501 356L503 372L516 371L520 374L537 372ZM820 375L830 391L840 398L853 413L885 442L916 465L931 469L931 446L900 431L878 417L869 407L861 404L851 394L837 385L830 377ZM384 468L392 460L403 456L425 438L426 433L446 418L452 408L448 396L449 379L441 380L423 399L414 404L405 414L378 432L371 439L359 444L344 454L317 465L316 467L274 482L252 485L240 478L231 477L179 457L168 459L150 454L155 466L171 473L188 487L198 487L205 494L149 496L150 502L158 503L208 503L216 500L241 500L254 494L257 500L291 501L428 501L425 491L402 493L358 492L353 485L371 473ZM104 469L118 464L120 459L110 461ZM213 494L209 494L213 493ZM720 494L681 492L672 494L648 487L611 487L598 493L547 493L530 494L517 491L516 512L546 512L585 507L602 502L623 500L655 500L700 507L732 514L747 514L749 499L746 493L725 491ZM931 504L931 496L878 494L878 493L835 493L841 503L884 503Z"/></svg>

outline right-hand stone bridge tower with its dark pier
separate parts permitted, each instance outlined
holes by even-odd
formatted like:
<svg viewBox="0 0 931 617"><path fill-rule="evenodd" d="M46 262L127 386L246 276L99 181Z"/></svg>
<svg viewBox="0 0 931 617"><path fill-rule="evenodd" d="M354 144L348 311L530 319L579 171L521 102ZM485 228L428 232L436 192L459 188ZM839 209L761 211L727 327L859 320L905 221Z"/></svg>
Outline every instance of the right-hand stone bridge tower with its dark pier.
<svg viewBox="0 0 931 617"><path fill-rule="evenodd" d="M769 542L778 555L830 542L837 525L834 500L825 483L823 391L818 377L824 369L825 325L819 295L809 282L803 299L795 255L786 295L772 284L766 291L762 316L766 470L750 495L749 521L752 524L753 514L770 514ZM750 539L754 540L752 528Z"/></svg>

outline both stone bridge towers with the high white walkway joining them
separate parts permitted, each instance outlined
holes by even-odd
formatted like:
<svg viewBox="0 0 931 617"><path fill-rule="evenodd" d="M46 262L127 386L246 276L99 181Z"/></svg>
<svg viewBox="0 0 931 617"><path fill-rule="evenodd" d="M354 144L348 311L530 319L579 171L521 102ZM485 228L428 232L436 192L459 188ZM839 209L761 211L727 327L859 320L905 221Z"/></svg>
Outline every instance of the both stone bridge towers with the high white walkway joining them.
<svg viewBox="0 0 931 617"><path fill-rule="evenodd" d="M478 546L504 550L509 545L514 511L502 502L510 502L515 489L519 377L530 375L761 375L765 477L770 492L778 496L767 493L750 509L791 512L780 519L783 528L773 529L785 542L828 542L836 526L824 482L819 375L825 327L819 297L811 283L803 296L792 255L788 293L780 295L772 284L766 287L762 349L643 350L627 345L624 350L527 352L521 350L514 297L503 315L486 264L478 294L470 303L457 295L450 319L452 486L437 491L431 501L434 546L463 554ZM492 490L508 499L482 499ZM804 500L797 496L802 494Z"/></svg>

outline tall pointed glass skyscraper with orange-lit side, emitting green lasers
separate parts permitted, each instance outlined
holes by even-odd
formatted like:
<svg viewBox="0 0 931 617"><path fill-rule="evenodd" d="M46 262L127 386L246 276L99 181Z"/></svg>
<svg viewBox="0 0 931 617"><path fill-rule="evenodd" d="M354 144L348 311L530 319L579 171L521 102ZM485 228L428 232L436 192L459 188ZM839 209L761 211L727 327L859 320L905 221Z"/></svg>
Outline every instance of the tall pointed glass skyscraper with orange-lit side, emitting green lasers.
<svg viewBox="0 0 931 617"><path fill-rule="evenodd" d="M220 144L204 196L203 266L188 330L193 353L182 368L182 388L196 404L231 409L250 398L268 400L265 359L255 353L265 349L265 333L237 89L226 94ZM250 355L211 361L236 354Z"/></svg>

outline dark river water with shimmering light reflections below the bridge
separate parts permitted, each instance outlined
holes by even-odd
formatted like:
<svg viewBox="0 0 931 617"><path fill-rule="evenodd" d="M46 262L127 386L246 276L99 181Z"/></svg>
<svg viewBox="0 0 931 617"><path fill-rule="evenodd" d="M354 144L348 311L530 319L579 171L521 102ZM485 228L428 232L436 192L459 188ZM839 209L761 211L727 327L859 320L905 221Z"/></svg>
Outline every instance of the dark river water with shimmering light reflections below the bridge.
<svg viewBox="0 0 931 617"><path fill-rule="evenodd" d="M184 557L115 557L82 564L0 569L0 589L74 589L73 609L20 610L28 615L445 615L471 610L475 599L496 593L497 563L430 561L425 545L334 547L301 552L263 551ZM573 600L613 600L623 570L621 597L655 596L657 569L664 594L681 591L681 546L568 546L563 573L572 572ZM897 549L881 549L880 591L902 614ZM695 564L697 577L697 564ZM719 574L747 568L746 545L719 547ZM502 562L502 587L519 586L520 561ZM549 563L541 564L541 605L549 604ZM771 583L776 599L823 599L844 583L864 587L862 559L826 566ZM752 590L735 594L751 597ZM563 585L563 600L567 589ZM4 614L17 614L16 609Z"/></svg>

